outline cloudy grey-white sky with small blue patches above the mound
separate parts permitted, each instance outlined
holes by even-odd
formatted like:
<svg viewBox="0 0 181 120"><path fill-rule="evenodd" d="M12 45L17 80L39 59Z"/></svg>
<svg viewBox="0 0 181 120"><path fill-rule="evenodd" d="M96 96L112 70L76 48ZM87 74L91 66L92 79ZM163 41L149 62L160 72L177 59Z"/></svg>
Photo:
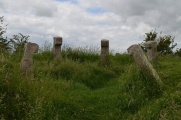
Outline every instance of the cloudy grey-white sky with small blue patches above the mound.
<svg viewBox="0 0 181 120"><path fill-rule="evenodd" d="M175 36L181 48L180 0L0 0L0 16L8 24L6 36L22 33L43 46L53 37L64 45L100 46L124 52L156 30Z"/></svg>

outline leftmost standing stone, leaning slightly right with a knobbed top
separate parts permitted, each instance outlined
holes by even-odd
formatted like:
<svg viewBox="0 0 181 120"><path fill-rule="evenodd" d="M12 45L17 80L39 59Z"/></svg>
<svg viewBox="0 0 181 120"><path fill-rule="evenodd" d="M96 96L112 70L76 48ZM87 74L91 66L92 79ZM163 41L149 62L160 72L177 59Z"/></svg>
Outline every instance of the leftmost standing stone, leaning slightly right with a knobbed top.
<svg viewBox="0 0 181 120"><path fill-rule="evenodd" d="M21 60L20 70L22 74L27 74L32 71L33 53L38 52L39 46L36 43L28 42L25 46L24 55Z"/></svg>

